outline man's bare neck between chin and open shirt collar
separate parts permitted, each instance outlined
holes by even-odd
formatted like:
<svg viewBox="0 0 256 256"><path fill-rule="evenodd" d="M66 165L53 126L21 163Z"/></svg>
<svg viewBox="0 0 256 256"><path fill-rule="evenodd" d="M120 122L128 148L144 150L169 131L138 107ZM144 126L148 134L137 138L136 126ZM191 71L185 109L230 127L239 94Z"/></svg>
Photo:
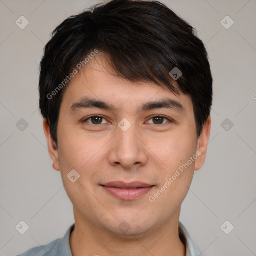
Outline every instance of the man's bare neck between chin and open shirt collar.
<svg viewBox="0 0 256 256"><path fill-rule="evenodd" d="M185 256L185 239L179 231L180 208L168 223L139 235L120 236L84 221L74 210L75 227L70 235L73 256ZM82 220L82 221L81 221Z"/></svg>

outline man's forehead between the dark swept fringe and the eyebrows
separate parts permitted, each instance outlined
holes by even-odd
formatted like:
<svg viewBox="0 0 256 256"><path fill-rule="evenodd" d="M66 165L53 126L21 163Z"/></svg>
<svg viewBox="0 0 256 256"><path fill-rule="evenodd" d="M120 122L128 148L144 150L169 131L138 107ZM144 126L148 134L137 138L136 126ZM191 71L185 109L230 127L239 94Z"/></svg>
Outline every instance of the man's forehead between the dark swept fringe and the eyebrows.
<svg viewBox="0 0 256 256"><path fill-rule="evenodd" d="M185 95L181 91L179 94L174 94L170 89L160 87L153 82L133 82L122 78L107 65L102 55L91 59L69 82L61 105L63 104L66 110L67 108L70 110L74 103L82 101L84 97L107 102L112 108L134 107L136 110L142 110L140 107L142 102L172 99L184 109L193 110L189 95Z"/></svg>

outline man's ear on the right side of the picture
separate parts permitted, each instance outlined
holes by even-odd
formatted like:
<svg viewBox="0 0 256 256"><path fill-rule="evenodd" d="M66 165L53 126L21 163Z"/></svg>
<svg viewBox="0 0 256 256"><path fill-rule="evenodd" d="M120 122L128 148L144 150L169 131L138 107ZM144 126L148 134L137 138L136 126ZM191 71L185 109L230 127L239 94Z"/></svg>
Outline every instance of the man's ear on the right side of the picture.
<svg viewBox="0 0 256 256"><path fill-rule="evenodd" d="M205 158L206 158L207 145L208 145L209 137L210 137L210 126L211 126L211 118L209 116L203 125L201 135L197 141L196 152L200 152L200 155L198 154L198 157L195 160L194 170L200 169L204 163Z"/></svg>

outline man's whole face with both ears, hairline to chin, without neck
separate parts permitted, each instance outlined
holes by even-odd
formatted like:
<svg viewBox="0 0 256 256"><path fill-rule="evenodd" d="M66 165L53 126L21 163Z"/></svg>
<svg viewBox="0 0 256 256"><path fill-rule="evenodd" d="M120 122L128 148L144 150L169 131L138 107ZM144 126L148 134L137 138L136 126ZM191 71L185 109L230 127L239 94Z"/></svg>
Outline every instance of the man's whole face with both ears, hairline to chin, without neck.
<svg viewBox="0 0 256 256"><path fill-rule="evenodd" d="M204 162L210 119L198 141L188 95L113 76L103 63L90 60L64 92L58 149L44 122L53 167L79 221L114 234L167 227Z"/></svg>

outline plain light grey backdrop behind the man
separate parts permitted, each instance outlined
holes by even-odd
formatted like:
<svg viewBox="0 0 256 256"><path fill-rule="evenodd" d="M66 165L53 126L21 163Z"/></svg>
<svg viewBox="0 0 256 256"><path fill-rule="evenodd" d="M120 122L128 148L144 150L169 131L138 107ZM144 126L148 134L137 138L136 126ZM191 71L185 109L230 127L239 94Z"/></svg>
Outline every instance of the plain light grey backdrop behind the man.
<svg viewBox="0 0 256 256"><path fill-rule="evenodd" d="M0 255L62 237L74 222L46 148L38 68L53 29L98 2L0 0ZM256 255L256 1L162 2L195 27L214 79L207 157L195 172L180 221L203 256ZM29 21L24 29L15 24L21 15ZM226 15L234 21L229 29L220 23ZM21 118L28 123L23 131L16 126ZM226 118L233 123L228 130ZM15 229L21 220L29 225L23 235ZM220 228L226 220L234 226L229 234Z"/></svg>

